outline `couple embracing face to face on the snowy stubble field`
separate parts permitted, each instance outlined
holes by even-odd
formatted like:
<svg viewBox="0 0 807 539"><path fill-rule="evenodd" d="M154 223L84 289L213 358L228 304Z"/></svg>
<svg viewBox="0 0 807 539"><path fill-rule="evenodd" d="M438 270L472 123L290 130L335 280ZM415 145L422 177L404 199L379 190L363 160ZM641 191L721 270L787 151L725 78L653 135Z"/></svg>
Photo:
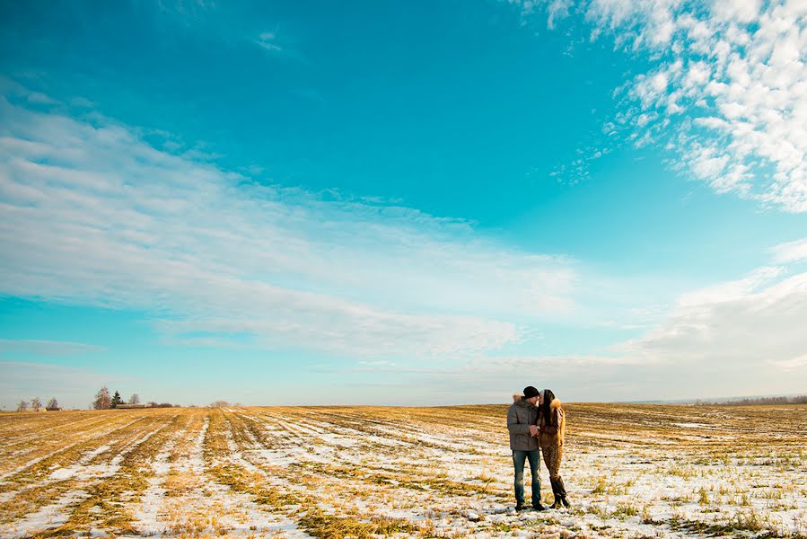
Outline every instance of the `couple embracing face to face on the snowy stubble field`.
<svg viewBox="0 0 807 539"><path fill-rule="evenodd" d="M552 508L560 508L561 504L570 507L563 479L560 478L565 428L563 408L551 390L538 391L528 385L523 394L513 395L513 404L507 411L507 429L510 431L510 448L513 450L517 511L527 508L524 504L524 464L527 460L530 461L532 474L532 508L539 511L545 509L540 504L539 447L549 470L549 481L555 496Z"/></svg>

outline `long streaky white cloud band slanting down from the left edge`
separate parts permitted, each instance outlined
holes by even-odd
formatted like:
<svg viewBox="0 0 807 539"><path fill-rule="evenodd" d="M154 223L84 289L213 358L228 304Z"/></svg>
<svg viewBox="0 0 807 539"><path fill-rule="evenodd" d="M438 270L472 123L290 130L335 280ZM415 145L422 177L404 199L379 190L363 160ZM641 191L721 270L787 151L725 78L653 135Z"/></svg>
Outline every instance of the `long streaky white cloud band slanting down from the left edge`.
<svg viewBox="0 0 807 539"><path fill-rule="evenodd" d="M575 264L410 208L325 201L0 101L2 293L150 310L177 340L452 356L575 311ZM233 337L234 336L234 337Z"/></svg>

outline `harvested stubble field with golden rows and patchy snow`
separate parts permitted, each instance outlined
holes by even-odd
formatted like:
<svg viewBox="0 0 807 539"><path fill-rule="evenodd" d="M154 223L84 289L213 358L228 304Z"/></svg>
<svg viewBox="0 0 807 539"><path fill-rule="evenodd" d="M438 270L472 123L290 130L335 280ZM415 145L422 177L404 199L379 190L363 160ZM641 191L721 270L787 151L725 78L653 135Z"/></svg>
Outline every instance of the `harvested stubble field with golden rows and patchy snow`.
<svg viewBox="0 0 807 539"><path fill-rule="evenodd" d="M4 413L0 536L807 537L807 407L569 404L574 506L521 514L505 412Z"/></svg>

